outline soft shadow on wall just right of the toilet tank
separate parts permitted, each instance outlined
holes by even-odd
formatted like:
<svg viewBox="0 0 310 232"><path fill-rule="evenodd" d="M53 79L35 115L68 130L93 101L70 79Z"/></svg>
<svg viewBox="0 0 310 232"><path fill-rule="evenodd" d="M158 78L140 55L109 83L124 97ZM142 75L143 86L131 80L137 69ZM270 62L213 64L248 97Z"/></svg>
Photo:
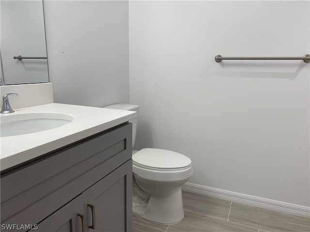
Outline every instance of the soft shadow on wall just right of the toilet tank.
<svg viewBox="0 0 310 232"><path fill-rule="evenodd" d="M142 148L153 147L153 145L153 134L150 122L139 118L137 125L137 138L134 150L141 150Z"/></svg>

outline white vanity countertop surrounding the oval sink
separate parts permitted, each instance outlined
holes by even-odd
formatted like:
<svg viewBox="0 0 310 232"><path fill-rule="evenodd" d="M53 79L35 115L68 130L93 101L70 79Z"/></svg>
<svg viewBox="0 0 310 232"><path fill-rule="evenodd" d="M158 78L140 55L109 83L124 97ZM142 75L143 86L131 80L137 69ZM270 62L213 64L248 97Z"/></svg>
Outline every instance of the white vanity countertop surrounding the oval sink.
<svg viewBox="0 0 310 232"><path fill-rule="evenodd" d="M64 113L74 116L74 120L47 131L1 137L1 171L105 131L137 116L133 111L50 103L16 109L15 113L1 114L0 119L8 115L26 113Z"/></svg>

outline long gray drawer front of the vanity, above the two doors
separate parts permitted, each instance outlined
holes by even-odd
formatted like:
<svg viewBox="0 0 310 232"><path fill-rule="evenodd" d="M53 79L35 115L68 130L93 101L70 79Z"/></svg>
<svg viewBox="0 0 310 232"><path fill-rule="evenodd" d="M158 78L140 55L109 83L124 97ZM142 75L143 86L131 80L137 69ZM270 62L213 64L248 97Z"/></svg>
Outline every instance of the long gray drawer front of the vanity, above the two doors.
<svg viewBox="0 0 310 232"><path fill-rule="evenodd" d="M131 137L126 123L1 175L1 222L39 202L51 207L45 213L57 210L129 160ZM35 213L33 221L43 216Z"/></svg>

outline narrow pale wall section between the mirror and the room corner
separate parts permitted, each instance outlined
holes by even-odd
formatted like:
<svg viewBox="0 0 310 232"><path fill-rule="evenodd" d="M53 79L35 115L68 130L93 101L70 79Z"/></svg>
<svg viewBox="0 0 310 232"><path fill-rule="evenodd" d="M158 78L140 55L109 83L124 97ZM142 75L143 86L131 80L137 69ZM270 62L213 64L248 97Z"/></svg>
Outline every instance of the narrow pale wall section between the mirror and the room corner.
<svg viewBox="0 0 310 232"><path fill-rule="evenodd" d="M45 1L54 101L128 102L128 1Z"/></svg>

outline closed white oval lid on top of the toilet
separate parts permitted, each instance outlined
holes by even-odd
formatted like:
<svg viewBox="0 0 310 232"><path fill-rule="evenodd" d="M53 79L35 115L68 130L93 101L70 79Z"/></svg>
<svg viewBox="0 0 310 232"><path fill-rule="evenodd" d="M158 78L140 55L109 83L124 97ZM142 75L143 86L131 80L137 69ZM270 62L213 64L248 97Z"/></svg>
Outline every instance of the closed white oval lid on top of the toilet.
<svg viewBox="0 0 310 232"><path fill-rule="evenodd" d="M183 168L191 160L180 153L156 148L144 148L132 156L133 163L151 168Z"/></svg>

